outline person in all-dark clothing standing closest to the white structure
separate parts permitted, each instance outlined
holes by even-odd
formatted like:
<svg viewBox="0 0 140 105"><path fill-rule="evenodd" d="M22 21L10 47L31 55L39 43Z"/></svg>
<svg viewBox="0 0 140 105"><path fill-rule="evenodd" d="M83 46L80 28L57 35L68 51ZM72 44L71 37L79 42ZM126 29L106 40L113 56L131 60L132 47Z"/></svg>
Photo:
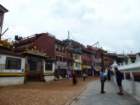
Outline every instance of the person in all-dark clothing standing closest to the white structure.
<svg viewBox="0 0 140 105"><path fill-rule="evenodd" d="M122 87L122 80L124 79L123 74L115 67L115 74L116 74L116 82L119 87L119 95L123 95L123 87Z"/></svg>

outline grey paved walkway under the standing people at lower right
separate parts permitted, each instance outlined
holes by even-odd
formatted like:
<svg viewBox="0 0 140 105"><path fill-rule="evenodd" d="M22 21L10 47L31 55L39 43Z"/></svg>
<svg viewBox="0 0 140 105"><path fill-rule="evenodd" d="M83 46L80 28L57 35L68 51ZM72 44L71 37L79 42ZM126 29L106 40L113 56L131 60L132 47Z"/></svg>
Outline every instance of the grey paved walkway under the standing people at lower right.
<svg viewBox="0 0 140 105"><path fill-rule="evenodd" d="M111 82L105 84L106 94L100 94L100 82L93 81L71 105L140 105L136 99L125 93L117 95L117 88Z"/></svg>

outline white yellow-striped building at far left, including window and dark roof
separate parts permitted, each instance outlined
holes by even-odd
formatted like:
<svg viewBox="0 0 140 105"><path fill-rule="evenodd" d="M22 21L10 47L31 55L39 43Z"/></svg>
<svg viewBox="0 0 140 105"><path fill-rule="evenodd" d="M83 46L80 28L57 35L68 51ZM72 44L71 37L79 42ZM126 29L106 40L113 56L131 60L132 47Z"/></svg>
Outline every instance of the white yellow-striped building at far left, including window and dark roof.
<svg viewBox="0 0 140 105"><path fill-rule="evenodd" d="M25 58L0 46L0 85L24 83Z"/></svg>

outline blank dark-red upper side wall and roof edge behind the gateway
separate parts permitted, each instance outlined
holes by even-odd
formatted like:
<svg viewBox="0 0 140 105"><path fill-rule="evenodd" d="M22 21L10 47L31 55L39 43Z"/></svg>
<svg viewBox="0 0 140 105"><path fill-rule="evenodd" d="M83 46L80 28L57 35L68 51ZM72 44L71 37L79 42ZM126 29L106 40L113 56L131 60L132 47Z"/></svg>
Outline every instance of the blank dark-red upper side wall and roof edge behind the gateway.
<svg viewBox="0 0 140 105"><path fill-rule="evenodd" d="M55 37L49 33L35 34L30 37L21 38L15 41L14 46L16 52L36 49L46 53L48 57L55 57Z"/></svg>

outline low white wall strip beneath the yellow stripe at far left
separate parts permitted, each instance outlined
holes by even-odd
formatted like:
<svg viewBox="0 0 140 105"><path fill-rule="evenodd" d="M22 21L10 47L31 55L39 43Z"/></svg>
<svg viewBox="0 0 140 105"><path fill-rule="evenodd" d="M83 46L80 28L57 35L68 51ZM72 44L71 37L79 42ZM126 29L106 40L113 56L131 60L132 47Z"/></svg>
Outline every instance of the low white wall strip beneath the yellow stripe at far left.
<svg viewBox="0 0 140 105"><path fill-rule="evenodd" d="M24 77L0 77L0 86L24 84Z"/></svg>

